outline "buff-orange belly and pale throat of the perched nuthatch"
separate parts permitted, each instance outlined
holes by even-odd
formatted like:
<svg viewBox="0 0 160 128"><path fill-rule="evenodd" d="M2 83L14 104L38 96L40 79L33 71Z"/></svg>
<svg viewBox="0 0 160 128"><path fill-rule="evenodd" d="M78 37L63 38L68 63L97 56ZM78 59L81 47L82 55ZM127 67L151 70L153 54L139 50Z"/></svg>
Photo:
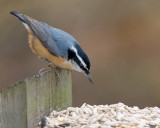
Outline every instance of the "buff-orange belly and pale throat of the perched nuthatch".
<svg viewBox="0 0 160 128"><path fill-rule="evenodd" d="M67 61L67 58L54 56L42 45L41 41L36 36L32 36L31 34L29 34L29 46L35 54L41 58L47 59L55 66L73 70L72 64Z"/></svg>

